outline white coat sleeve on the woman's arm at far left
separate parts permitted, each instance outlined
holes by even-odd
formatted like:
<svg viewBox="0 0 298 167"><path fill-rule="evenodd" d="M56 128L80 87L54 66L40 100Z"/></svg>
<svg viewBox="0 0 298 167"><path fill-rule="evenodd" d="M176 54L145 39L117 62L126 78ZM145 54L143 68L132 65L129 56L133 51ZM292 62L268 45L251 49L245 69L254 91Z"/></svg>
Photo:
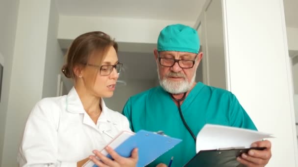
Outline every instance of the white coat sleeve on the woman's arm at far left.
<svg viewBox="0 0 298 167"><path fill-rule="evenodd" d="M76 162L57 160L57 126L60 108L50 101L40 101L32 109L19 149L20 167L76 167Z"/></svg>

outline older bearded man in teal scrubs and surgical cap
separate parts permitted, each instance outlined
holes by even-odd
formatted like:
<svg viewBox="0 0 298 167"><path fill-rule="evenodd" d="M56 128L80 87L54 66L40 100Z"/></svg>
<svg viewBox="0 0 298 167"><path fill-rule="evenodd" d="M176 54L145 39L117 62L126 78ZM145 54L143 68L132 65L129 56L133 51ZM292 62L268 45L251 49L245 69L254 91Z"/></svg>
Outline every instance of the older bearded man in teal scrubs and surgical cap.
<svg viewBox="0 0 298 167"><path fill-rule="evenodd" d="M196 135L205 124L257 130L231 92L195 82L202 57L195 29L182 24L165 27L154 50L160 86L130 97L124 106L133 131L163 130L183 140L150 167L167 164L172 156L173 167L186 164L196 154ZM252 146L267 149L250 150L237 160L248 167L264 167L271 158L271 143L257 141Z"/></svg>

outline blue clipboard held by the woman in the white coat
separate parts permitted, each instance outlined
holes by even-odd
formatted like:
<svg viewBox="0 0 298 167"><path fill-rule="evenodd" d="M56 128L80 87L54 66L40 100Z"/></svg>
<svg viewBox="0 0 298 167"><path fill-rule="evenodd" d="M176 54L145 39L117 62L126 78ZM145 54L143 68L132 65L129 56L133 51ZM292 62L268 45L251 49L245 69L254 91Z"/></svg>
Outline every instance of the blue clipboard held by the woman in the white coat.
<svg viewBox="0 0 298 167"><path fill-rule="evenodd" d="M144 167L156 158L176 146L182 140L169 136L140 130L135 135L129 137L114 150L123 157L130 157L131 151L138 148L139 161L137 167ZM107 157L111 158L108 154ZM111 158L112 159L112 158ZM94 165L93 167L98 167Z"/></svg>

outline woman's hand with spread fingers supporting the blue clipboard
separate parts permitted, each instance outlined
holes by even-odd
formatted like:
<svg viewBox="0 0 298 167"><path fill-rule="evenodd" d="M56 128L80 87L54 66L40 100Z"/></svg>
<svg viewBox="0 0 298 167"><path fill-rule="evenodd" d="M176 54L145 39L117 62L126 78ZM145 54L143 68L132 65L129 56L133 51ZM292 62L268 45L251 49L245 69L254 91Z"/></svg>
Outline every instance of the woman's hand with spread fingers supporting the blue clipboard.
<svg viewBox="0 0 298 167"><path fill-rule="evenodd" d="M135 167L138 162L138 148L134 148L129 158L125 158L117 154L110 147L105 148L114 160L102 155L98 150L94 150L95 156L91 155L89 158L99 167ZM96 158L98 157L100 161Z"/></svg>

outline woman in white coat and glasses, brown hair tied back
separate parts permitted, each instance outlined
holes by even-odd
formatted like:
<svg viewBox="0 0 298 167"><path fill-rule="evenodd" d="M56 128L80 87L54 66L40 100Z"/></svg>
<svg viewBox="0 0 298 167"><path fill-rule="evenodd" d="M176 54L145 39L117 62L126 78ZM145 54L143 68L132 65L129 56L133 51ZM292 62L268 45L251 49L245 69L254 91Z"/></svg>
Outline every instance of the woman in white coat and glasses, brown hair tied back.
<svg viewBox="0 0 298 167"><path fill-rule="evenodd" d="M102 100L113 95L122 68L117 51L117 43L103 32L75 39L62 68L75 86L68 95L45 98L34 106L19 150L21 167L81 167L89 159L99 167L136 166L137 148L129 158L105 148L113 161L98 151L122 130L130 131L126 117Z"/></svg>

